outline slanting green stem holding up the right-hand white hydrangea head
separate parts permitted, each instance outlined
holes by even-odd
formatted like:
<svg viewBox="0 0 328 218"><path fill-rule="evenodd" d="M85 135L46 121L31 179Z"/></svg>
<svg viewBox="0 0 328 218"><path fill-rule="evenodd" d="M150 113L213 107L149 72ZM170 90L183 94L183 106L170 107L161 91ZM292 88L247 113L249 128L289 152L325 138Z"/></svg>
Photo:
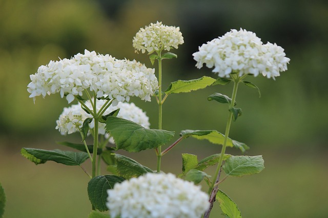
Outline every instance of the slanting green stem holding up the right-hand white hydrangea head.
<svg viewBox="0 0 328 218"><path fill-rule="evenodd" d="M235 103L236 96L237 96L238 84L239 84L239 82L241 81L242 78L240 78L238 75L232 75L232 79L234 81L234 87L233 87L232 98L231 98L231 103L230 103L229 108L234 107L234 103ZM226 148L227 148L227 142L228 142L230 127L231 127L231 123L232 123L232 116L233 116L233 112L230 111L229 115L228 115L227 125L226 125L226 132L224 133L224 140L223 140L223 145L222 145L222 149L221 149L219 162L218 162L218 165L216 167L216 171L215 171L215 174L214 174L214 177L213 177L213 182L212 182L212 184L209 188L209 194L211 196L210 197L211 207L204 214L204 218L209 217L211 209L213 207L213 203L214 203L214 200L215 200L216 193L218 191L218 182L219 182L219 178L220 178L220 172L221 172L224 153L226 152Z"/></svg>

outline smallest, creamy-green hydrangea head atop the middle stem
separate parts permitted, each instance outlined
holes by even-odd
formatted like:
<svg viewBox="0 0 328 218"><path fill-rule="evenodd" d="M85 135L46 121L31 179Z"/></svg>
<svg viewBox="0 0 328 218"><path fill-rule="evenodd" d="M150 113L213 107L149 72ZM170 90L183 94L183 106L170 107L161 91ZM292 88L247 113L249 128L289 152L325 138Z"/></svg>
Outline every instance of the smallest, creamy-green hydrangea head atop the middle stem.
<svg viewBox="0 0 328 218"><path fill-rule="evenodd" d="M178 48L183 44L182 33L179 27L162 25L162 22L151 23L150 26L140 28L133 37L133 47L135 51L151 54L155 51L170 51L172 47Z"/></svg>

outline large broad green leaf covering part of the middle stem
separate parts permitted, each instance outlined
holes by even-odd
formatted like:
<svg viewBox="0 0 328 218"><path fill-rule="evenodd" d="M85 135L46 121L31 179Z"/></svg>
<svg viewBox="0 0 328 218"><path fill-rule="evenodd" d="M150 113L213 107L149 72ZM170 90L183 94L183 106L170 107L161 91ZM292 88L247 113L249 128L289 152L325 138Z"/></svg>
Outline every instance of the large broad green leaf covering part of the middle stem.
<svg viewBox="0 0 328 218"><path fill-rule="evenodd" d="M106 130L114 138L116 149L128 152L154 149L167 144L174 137L174 132L146 129L130 120L115 116L107 118Z"/></svg>

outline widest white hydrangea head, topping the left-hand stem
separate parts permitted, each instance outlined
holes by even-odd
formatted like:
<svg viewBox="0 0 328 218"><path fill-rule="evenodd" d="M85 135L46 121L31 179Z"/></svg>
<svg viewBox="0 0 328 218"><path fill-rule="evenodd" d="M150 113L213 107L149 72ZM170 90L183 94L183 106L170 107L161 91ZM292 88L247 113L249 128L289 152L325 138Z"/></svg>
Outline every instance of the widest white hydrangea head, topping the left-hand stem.
<svg viewBox="0 0 328 218"><path fill-rule="evenodd" d="M155 69L147 68L135 60L118 60L110 55L97 55L85 50L71 59L50 61L40 66L28 84L30 98L60 93L69 103L74 95L82 95L84 90L95 91L97 98L109 95L117 102L129 101L137 96L150 101L158 86Z"/></svg>

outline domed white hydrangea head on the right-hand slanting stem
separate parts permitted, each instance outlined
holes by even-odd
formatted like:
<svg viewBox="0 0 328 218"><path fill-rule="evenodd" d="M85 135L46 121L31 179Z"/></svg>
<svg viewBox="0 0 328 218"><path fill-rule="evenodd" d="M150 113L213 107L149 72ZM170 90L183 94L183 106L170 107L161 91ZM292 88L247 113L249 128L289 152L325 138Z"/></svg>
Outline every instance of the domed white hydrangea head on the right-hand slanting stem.
<svg viewBox="0 0 328 218"><path fill-rule="evenodd" d="M263 44L255 33L243 29L231 30L222 37L213 39L199 47L194 53L197 68L205 63L217 72L219 77L230 77L237 72L239 76L260 73L268 78L280 76L287 70L290 59L285 57L282 47L268 42Z"/></svg>

